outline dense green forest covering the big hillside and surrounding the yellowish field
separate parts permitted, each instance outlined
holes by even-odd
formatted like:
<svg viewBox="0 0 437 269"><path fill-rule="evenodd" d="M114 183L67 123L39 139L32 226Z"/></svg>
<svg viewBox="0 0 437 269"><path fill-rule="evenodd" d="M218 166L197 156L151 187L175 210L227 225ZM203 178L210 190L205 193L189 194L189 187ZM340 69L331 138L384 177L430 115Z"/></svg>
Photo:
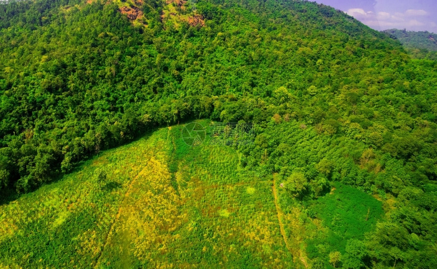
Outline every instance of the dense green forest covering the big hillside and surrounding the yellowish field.
<svg viewBox="0 0 437 269"><path fill-rule="evenodd" d="M254 143L228 143L238 165L284 182L284 214L337 220L305 237L310 266L435 268L436 85L432 58L316 3L2 3L0 192L34 191L157 127L253 123ZM375 218L359 236L343 232L359 229L349 211L325 212L366 213L350 195Z"/></svg>

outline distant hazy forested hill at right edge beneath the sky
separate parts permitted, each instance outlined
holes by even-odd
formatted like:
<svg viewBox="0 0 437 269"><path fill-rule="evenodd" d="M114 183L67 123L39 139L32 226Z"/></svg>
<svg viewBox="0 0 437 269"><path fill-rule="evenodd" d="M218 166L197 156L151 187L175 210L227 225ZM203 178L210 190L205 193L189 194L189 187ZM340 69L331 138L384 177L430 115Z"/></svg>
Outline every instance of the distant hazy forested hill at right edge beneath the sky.
<svg viewBox="0 0 437 269"><path fill-rule="evenodd" d="M398 40L414 57L437 60L436 34L427 31L406 31L405 29L389 29L383 32Z"/></svg>

